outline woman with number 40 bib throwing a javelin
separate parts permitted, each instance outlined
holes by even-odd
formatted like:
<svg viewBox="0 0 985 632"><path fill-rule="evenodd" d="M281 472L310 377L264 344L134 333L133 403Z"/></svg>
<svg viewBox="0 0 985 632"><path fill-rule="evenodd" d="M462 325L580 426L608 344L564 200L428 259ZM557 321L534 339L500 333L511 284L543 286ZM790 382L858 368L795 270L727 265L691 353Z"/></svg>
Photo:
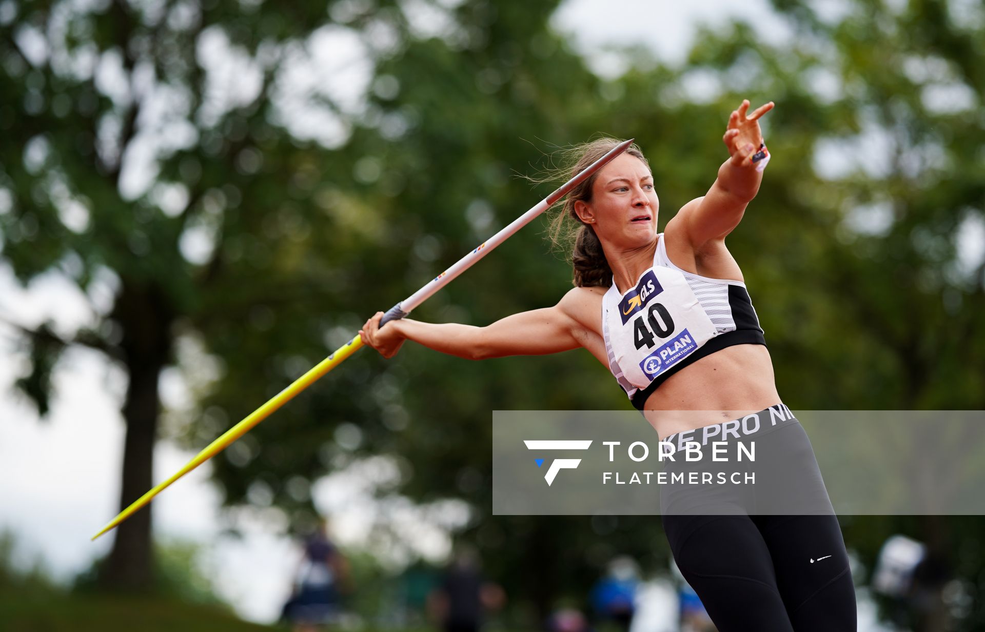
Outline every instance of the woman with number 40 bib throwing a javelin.
<svg viewBox="0 0 985 632"><path fill-rule="evenodd" d="M575 287L554 307L487 327L403 319L380 328L377 312L360 334L385 357L407 340L470 359L587 348L662 440L683 446L708 437L755 439L760 454L772 447L793 456L796 472L757 480L759 495L743 492L741 501L718 491L662 492L664 530L721 632L854 631L855 592L837 519L807 435L781 404L742 271L725 246L769 158L758 119L773 103L752 114L749 106L744 100L729 117L722 140L731 158L715 183L663 233L656 228L653 175L635 146L568 195L553 227L581 224L572 253ZM618 143L585 145L572 174ZM784 493L794 504L805 501L803 508L755 511Z"/></svg>

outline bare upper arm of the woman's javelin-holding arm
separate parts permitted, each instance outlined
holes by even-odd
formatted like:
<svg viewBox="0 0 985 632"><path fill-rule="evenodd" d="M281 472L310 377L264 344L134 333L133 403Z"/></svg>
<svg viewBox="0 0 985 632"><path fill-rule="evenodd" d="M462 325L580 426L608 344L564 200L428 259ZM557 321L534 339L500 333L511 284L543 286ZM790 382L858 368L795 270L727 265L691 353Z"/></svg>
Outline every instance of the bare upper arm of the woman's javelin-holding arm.
<svg viewBox="0 0 985 632"><path fill-rule="evenodd" d="M578 327L558 305L512 314L481 329L476 359L544 355L579 348Z"/></svg>

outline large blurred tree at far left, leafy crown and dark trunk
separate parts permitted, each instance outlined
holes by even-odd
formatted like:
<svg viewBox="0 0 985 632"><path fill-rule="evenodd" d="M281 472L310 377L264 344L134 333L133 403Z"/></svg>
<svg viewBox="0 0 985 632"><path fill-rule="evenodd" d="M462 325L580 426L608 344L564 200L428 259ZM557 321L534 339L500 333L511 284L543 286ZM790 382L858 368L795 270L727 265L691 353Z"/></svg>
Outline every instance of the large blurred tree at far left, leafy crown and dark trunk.
<svg viewBox="0 0 985 632"><path fill-rule="evenodd" d="M347 268L374 213L312 194L349 186L351 165L326 148L365 115L361 82L405 27L387 2L0 5L3 256L25 284L60 272L93 311L84 331L25 329L32 370L18 386L43 415L64 348L123 369L121 507L152 485L159 381L179 342L195 369L195 341L209 339L230 379L252 368L230 348L281 365L301 340L326 348L325 314L361 285ZM261 342L278 319L291 327ZM104 586L150 586L149 510L116 531L102 568Z"/></svg>

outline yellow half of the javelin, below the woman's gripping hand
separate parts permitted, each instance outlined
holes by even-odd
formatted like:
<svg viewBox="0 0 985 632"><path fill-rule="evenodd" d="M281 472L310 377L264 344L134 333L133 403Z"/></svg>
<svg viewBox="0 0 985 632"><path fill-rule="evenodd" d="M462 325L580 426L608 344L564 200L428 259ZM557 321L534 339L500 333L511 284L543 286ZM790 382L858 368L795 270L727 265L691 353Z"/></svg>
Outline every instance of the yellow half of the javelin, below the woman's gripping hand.
<svg viewBox="0 0 985 632"><path fill-rule="evenodd" d="M287 387L286 389L284 389L283 391L272 397L270 400L267 401L266 404L261 406L256 411L250 412L246 418L244 418L242 421L232 426L229 430L223 433L222 436L220 436L218 439L210 443L208 447L206 447L204 450L199 452L194 459L189 461L185 465L185 467L178 470L177 473L175 473L170 478L159 484L157 487L151 489L151 491L147 492L146 494L138 498L136 501L134 501L134 503L131 504L129 507L121 511L119 515L116 516L116 518L113 518L108 525L102 528L102 531L100 531L97 535L93 536L93 539L96 539L97 537L101 536L102 534L106 533L110 529L116 527L121 522L132 516L141 507L151 502L151 500L155 496L157 496L159 493L164 491L164 488L166 488L169 484L171 484L181 476L188 474L195 468L199 467L209 459L213 458L214 456L225 450L227 446L230 445L230 443L232 443L242 435L249 432L250 428L252 428L257 423L260 423L261 421L266 419L271 412L278 410L279 408L290 402L292 399L294 399L294 397L298 393L300 393L308 386L310 386L312 382L320 378L325 373L328 373L329 371L334 369L336 366L341 364L343 360L345 360L347 357L355 353L356 350L361 347L362 347L362 339L360 338L360 336L357 335L356 338L349 341L342 347L338 348L334 353L332 353L322 361L318 362L307 373L297 378L291 384L291 386Z"/></svg>

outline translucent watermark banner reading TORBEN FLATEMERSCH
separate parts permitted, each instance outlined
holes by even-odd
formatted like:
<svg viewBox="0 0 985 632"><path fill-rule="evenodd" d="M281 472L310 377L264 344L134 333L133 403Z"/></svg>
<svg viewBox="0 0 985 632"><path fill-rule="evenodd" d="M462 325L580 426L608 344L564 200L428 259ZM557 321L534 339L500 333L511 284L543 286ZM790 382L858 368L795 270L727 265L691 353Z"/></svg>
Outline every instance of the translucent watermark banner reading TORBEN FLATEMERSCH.
<svg viewBox="0 0 985 632"><path fill-rule="evenodd" d="M494 411L493 514L985 515L985 411Z"/></svg>

